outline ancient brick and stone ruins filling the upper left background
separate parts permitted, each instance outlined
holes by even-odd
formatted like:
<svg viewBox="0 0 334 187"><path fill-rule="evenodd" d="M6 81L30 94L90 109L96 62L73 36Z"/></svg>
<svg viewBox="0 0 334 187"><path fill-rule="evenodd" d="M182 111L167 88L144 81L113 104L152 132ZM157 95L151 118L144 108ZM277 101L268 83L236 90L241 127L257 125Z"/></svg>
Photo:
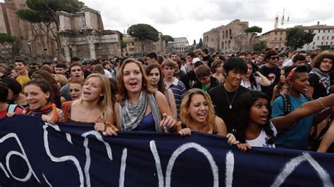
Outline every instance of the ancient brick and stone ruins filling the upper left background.
<svg viewBox="0 0 334 187"><path fill-rule="evenodd" d="M70 60L71 56L87 59L120 56L119 36L115 31L104 30L98 11L86 7L75 14L59 12L60 30L56 30L54 25L47 37L44 25L31 24L17 18L16 11L25 8L25 0L5 0L0 3L0 32L18 39L15 45L8 46L17 48L18 53L14 58L43 62L58 54L59 57L66 57L63 60ZM57 36L61 40L61 49L57 46ZM2 46L0 56L9 56Z"/></svg>

